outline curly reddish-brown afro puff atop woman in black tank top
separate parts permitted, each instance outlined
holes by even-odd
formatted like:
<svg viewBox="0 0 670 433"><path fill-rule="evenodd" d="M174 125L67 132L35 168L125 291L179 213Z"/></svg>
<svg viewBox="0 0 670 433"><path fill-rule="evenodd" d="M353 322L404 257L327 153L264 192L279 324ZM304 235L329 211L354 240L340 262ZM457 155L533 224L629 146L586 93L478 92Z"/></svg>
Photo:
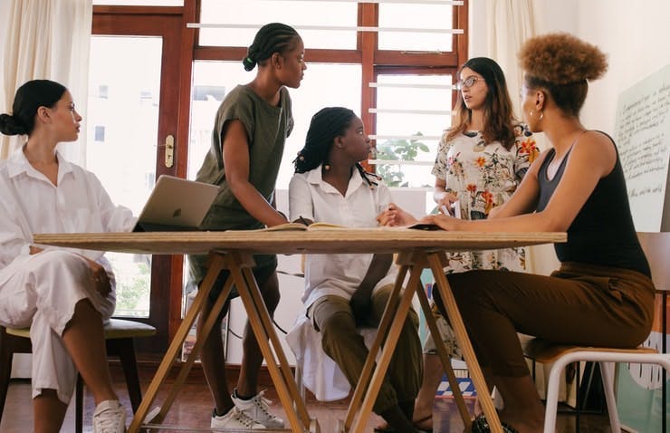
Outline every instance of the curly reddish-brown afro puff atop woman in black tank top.
<svg viewBox="0 0 670 433"><path fill-rule="evenodd" d="M519 60L532 77L556 84L596 80L608 69L605 53L567 33L529 39L522 45Z"/></svg>

